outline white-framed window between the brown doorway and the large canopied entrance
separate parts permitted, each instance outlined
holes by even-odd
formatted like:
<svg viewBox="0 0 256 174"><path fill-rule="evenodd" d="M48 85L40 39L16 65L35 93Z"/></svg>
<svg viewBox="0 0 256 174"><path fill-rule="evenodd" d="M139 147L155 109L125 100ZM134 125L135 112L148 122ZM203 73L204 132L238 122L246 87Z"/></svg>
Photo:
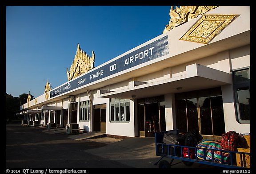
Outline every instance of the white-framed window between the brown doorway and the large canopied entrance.
<svg viewBox="0 0 256 174"><path fill-rule="evenodd" d="M112 98L110 101L110 122L130 121L130 101Z"/></svg>

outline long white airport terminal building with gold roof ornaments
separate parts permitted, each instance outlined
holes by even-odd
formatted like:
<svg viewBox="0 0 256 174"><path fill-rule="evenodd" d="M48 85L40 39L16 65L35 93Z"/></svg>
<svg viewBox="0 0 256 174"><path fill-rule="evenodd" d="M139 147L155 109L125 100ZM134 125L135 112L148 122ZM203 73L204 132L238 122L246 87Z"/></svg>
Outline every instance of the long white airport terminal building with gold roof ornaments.
<svg viewBox="0 0 256 174"><path fill-rule="evenodd" d="M250 132L250 6L172 6L170 17L163 34L95 68L78 44L68 81L47 81L19 114L118 137Z"/></svg>

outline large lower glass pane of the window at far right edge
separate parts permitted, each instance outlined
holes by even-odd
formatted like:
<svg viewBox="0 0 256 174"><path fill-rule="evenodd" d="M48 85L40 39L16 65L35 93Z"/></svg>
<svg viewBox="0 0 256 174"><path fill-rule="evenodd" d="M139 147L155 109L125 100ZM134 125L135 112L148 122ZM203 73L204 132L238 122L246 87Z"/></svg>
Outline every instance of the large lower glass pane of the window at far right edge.
<svg viewBox="0 0 256 174"><path fill-rule="evenodd" d="M249 87L237 88L238 106L241 120L250 120Z"/></svg>

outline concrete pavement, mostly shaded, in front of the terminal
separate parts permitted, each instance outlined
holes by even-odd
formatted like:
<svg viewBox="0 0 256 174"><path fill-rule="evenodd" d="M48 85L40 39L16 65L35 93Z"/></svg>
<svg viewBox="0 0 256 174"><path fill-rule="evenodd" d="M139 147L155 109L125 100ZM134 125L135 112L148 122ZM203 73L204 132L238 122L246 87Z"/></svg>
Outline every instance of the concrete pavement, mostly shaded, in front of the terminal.
<svg viewBox="0 0 256 174"><path fill-rule="evenodd" d="M93 138L91 133L86 139L85 135L68 135L63 128L6 125L6 167L158 168L154 163L161 157L155 155L154 138ZM188 167L179 160L172 164L172 168L211 167L198 163Z"/></svg>

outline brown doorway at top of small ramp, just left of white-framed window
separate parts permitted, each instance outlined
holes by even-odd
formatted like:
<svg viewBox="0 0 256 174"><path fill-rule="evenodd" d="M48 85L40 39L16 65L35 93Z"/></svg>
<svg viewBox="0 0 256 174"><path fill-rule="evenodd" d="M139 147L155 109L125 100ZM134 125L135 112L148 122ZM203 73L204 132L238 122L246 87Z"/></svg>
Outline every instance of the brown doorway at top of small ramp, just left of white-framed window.
<svg viewBox="0 0 256 174"><path fill-rule="evenodd" d="M94 105L94 131L106 132L107 104Z"/></svg>

